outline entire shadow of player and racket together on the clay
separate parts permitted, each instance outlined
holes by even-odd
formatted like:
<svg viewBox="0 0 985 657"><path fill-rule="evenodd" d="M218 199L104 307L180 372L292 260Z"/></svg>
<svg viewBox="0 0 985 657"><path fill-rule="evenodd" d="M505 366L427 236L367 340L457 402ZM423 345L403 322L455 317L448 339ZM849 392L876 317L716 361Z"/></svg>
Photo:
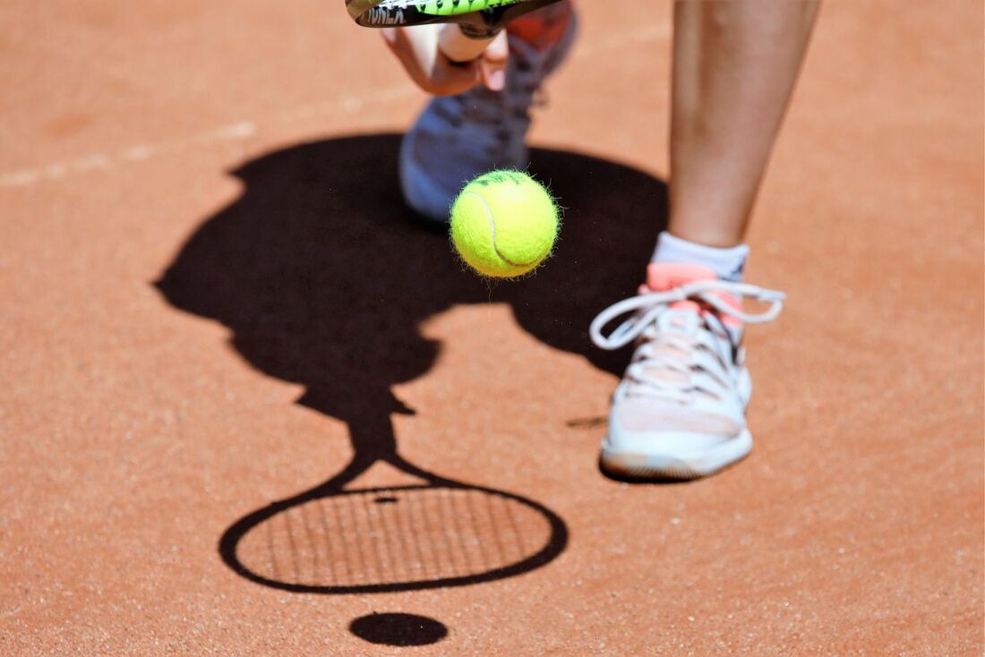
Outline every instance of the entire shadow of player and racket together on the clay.
<svg viewBox="0 0 985 657"><path fill-rule="evenodd" d="M666 224L653 176L537 150L532 170L567 208L552 261L492 289L463 272L446 232L414 221L396 186L399 135L302 144L242 165L239 198L208 218L156 283L173 306L216 319L259 370L303 384L298 403L348 424L353 461L317 487L243 516L219 552L275 588L372 593L510 577L558 557L563 520L515 493L439 477L401 457L392 386L427 373L439 345L418 330L453 305L505 302L558 350L619 374L627 354L590 346L588 325L633 294ZM377 462L420 486L351 491Z"/></svg>

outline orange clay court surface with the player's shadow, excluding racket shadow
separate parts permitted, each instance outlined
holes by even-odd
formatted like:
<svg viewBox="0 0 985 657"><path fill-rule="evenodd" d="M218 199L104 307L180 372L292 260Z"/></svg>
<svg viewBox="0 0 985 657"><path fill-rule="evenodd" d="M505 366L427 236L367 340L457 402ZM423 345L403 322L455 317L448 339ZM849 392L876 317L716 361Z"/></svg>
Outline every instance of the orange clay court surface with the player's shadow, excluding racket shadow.
<svg viewBox="0 0 985 657"><path fill-rule="evenodd" d="M533 135L557 257L492 289L407 223L425 98L341 0L0 7L0 654L982 653L981 4L823 8L750 235L789 295L755 449L678 485L596 465L628 355L588 322L666 221L671 8L613 4ZM558 554L344 595L224 561L380 435L550 509Z"/></svg>

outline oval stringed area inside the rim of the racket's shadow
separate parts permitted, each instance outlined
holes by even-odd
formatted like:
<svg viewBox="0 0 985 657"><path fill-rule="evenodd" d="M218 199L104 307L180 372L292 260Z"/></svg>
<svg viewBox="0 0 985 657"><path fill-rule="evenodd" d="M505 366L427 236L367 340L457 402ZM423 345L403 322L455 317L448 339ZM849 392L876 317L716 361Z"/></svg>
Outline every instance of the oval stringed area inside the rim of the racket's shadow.
<svg viewBox="0 0 985 657"><path fill-rule="evenodd" d="M239 560L287 584L403 584L468 577L531 558L551 540L538 509L468 488L339 493L288 508L247 532Z"/></svg>

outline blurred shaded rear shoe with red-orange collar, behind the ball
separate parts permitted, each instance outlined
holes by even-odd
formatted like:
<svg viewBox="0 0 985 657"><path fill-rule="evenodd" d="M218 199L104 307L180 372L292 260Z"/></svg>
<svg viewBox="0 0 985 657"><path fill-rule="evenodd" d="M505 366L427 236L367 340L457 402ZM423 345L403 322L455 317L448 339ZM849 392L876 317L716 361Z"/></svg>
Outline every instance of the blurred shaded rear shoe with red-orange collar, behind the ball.
<svg viewBox="0 0 985 657"><path fill-rule="evenodd" d="M400 186L407 204L435 222L468 180L493 168L525 168L530 107L558 67L575 33L569 3L510 24L506 88L484 86L431 99L400 148Z"/></svg>

